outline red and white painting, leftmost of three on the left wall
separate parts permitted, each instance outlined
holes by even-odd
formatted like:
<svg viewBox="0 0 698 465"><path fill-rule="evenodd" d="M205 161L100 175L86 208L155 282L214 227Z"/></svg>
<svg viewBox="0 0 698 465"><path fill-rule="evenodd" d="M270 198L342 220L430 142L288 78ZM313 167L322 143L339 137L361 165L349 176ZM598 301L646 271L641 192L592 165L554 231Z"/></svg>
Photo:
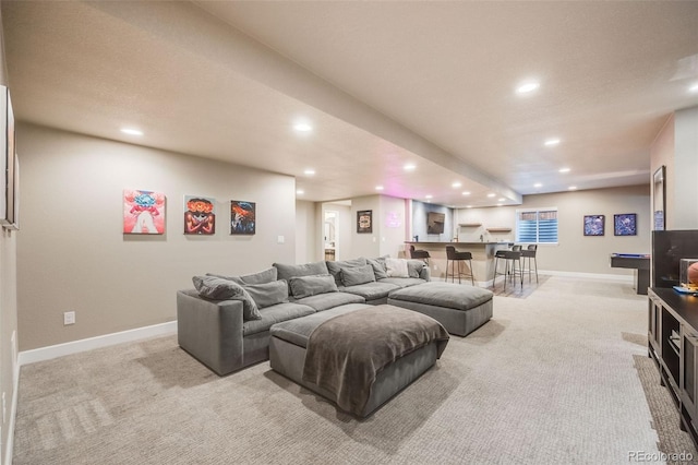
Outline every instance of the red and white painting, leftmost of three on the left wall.
<svg viewBox="0 0 698 465"><path fill-rule="evenodd" d="M165 194L125 189L123 191L123 234L165 234Z"/></svg>

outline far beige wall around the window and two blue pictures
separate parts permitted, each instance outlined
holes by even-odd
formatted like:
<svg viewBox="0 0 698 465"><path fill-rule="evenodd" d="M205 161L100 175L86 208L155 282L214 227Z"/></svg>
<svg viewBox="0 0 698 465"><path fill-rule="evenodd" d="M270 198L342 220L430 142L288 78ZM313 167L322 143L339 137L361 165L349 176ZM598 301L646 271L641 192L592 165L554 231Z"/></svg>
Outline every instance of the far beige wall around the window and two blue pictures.
<svg viewBox="0 0 698 465"><path fill-rule="evenodd" d="M563 192L554 194L525 195L519 206L460 210L460 223L482 223L482 234L488 226L510 227L510 234L492 234L490 239L513 240L516 230L516 210L556 206L558 211L557 246L540 246L538 264L540 270L566 273L631 274L631 270L610 267L609 255L619 253L650 252L650 187L634 186L615 189ZM637 213L637 236L613 235L613 215ZM605 215L605 235L586 237L582 234L585 215ZM461 230L467 230L461 228ZM479 238L477 239L479 240ZM485 237L486 240L486 237Z"/></svg>

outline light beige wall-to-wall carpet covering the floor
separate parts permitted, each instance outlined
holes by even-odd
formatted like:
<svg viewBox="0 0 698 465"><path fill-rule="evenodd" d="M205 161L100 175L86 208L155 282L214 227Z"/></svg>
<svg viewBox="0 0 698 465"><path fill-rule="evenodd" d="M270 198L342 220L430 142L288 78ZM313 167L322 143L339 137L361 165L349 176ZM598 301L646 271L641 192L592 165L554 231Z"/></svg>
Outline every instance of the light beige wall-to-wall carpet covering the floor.
<svg viewBox="0 0 698 465"><path fill-rule="evenodd" d="M174 336L22 368L14 464L623 464L657 453L634 356L646 297L551 277L452 336L359 421L269 369L219 378ZM681 451L671 451L681 452Z"/></svg>

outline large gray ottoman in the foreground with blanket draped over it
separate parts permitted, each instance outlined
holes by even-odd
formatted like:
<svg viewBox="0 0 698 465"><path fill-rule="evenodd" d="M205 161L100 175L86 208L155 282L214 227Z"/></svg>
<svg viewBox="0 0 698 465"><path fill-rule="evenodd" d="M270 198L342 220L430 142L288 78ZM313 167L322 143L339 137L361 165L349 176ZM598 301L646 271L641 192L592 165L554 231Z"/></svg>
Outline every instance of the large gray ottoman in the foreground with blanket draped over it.
<svg viewBox="0 0 698 465"><path fill-rule="evenodd" d="M274 371L360 418L434 366L448 343L434 319L388 305L346 305L269 333Z"/></svg>

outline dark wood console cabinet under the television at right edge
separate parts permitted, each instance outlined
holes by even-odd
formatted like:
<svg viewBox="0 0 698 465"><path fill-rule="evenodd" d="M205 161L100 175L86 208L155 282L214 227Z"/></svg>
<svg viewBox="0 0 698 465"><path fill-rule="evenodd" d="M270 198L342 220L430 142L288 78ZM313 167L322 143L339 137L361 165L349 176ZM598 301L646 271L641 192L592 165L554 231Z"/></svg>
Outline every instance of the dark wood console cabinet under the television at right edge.
<svg viewBox="0 0 698 465"><path fill-rule="evenodd" d="M678 408L681 429L698 446L698 297L651 287L648 298L649 356Z"/></svg>

